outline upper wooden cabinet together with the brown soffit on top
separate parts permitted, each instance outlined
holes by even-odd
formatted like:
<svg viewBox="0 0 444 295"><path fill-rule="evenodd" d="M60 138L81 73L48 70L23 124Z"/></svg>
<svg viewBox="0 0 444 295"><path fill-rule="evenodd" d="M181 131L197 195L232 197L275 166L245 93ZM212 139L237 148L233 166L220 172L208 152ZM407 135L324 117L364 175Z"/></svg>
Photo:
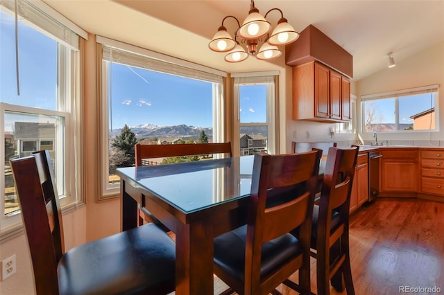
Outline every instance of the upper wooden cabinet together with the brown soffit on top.
<svg viewBox="0 0 444 295"><path fill-rule="evenodd" d="M346 122L350 118L353 57L313 25L285 47L293 66L293 119Z"/></svg>

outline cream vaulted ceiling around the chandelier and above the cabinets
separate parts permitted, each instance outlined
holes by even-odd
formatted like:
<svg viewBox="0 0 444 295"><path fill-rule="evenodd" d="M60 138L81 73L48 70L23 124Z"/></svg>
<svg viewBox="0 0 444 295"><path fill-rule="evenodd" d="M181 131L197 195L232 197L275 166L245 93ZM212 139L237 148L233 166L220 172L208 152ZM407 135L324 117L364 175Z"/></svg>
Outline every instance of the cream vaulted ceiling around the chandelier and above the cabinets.
<svg viewBox="0 0 444 295"><path fill-rule="evenodd" d="M284 57L264 62L249 57L237 64L210 51L226 15L240 22L248 0L43 0L89 33L148 48L230 73L268 71L284 66ZM280 8L297 31L313 24L353 55L354 80L386 68L387 53L395 62L444 40L444 0L256 0L264 15ZM280 17L271 12L273 27ZM229 33L235 21L225 21ZM296 41L298 42L298 41ZM443 53L444 54L444 53Z"/></svg>

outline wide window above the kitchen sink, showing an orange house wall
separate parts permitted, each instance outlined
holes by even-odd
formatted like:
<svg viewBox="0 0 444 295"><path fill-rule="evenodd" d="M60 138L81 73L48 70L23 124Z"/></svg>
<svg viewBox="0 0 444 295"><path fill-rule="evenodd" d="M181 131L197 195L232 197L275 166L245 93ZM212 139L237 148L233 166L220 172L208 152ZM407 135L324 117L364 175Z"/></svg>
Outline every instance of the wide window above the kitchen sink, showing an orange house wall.
<svg viewBox="0 0 444 295"><path fill-rule="evenodd" d="M438 130L438 87L361 96L363 132Z"/></svg>

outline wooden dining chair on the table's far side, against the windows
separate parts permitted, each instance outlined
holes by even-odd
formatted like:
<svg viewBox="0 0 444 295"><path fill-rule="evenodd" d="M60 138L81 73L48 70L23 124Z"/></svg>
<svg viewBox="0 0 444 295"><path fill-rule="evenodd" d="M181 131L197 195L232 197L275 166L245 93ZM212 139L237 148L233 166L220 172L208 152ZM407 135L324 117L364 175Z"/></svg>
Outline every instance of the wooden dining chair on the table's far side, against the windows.
<svg viewBox="0 0 444 295"><path fill-rule="evenodd" d="M183 143L183 144L168 144L168 145L142 145L137 143L135 150L135 165L142 166L144 160L167 158L167 157L182 157L182 156L200 156L208 154L224 154L232 157L231 143ZM144 224L155 222L164 231L169 231L167 226L162 224L157 218L151 214L144 206L139 206L139 220L138 223Z"/></svg>

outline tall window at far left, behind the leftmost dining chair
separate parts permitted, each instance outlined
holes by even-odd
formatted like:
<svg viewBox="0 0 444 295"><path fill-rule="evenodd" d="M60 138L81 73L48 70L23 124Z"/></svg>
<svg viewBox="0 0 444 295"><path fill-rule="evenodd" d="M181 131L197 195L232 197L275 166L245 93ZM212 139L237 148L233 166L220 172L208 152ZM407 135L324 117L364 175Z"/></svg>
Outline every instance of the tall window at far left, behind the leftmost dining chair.
<svg viewBox="0 0 444 295"><path fill-rule="evenodd" d="M72 126L79 38L41 1L17 0L17 7L16 28L15 2L0 5L1 229L20 220L10 159L49 150L62 207L76 202Z"/></svg>

